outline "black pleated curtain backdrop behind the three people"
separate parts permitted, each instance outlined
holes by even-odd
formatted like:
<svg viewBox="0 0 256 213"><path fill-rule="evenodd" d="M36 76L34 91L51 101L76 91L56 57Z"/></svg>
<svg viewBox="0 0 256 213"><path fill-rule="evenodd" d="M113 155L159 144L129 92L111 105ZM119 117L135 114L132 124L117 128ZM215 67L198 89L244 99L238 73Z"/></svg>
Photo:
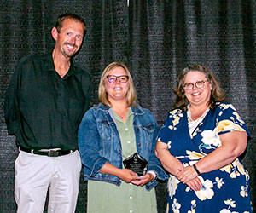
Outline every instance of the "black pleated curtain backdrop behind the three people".
<svg viewBox="0 0 256 213"><path fill-rule="evenodd" d="M130 68L138 100L163 124L172 108L177 75L191 64L210 66L252 137L243 158L250 172L256 209L256 2L255 0L9 0L0 1L0 212L15 212L15 138L7 135L4 93L18 60L54 47L50 36L63 13L84 17L88 33L75 57L94 77L91 104L97 103L102 70L113 60ZM76 212L86 212L81 180ZM157 187L165 212L166 185ZM209 206L209 208L211 208Z"/></svg>

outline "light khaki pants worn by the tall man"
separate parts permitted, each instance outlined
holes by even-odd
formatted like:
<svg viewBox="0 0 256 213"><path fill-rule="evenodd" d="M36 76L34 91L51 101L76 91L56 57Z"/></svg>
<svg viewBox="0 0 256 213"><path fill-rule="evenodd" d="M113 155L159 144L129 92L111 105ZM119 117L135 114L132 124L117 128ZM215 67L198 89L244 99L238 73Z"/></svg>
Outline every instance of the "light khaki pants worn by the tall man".
<svg viewBox="0 0 256 213"><path fill-rule="evenodd" d="M79 193L80 171L78 151L61 157L20 151L15 160L17 213L44 212L48 189L48 213L73 213Z"/></svg>

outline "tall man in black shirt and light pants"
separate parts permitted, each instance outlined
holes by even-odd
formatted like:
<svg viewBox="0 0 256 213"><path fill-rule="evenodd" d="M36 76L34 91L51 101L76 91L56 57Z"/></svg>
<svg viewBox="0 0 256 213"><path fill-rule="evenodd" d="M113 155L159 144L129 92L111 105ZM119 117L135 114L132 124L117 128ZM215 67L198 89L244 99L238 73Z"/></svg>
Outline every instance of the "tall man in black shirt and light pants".
<svg viewBox="0 0 256 213"><path fill-rule="evenodd" d="M15 201L18 213L75 211L81 161L77 130L90 102L90 74L72 57L86 26L76 14L62 14L51 31L51 55L20 60L4 104L9 135L16 136Z"/></svg>

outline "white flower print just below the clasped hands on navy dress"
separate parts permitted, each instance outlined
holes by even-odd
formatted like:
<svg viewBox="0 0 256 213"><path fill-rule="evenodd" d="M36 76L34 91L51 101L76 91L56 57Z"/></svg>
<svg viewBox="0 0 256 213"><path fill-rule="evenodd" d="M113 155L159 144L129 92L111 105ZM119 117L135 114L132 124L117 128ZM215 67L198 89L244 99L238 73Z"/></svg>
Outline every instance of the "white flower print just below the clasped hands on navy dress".
<svg viewBox="0 0 256 213"><path fill-rule="evenodd" d="M212 190L212 181L205 181L201 176L198 176L198 178L200 179L203 187L201 187L200 191L195 191L195 195L201 200L212 199L214 195L214 191Z"/></svg>

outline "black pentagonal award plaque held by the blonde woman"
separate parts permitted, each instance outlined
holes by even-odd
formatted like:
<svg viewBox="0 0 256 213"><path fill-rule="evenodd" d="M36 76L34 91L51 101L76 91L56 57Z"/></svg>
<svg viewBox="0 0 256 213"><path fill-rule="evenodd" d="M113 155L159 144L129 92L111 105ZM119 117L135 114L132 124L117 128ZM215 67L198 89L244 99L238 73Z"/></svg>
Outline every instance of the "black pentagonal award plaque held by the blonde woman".
<svg viewBox="0 0 256 213"><path fill-rule="evenodd" d="M134 171L138 176L143 176L148 167L148 161L138 153L134 153L128 158L125 158L123 164L125 169Z"/></svg>

